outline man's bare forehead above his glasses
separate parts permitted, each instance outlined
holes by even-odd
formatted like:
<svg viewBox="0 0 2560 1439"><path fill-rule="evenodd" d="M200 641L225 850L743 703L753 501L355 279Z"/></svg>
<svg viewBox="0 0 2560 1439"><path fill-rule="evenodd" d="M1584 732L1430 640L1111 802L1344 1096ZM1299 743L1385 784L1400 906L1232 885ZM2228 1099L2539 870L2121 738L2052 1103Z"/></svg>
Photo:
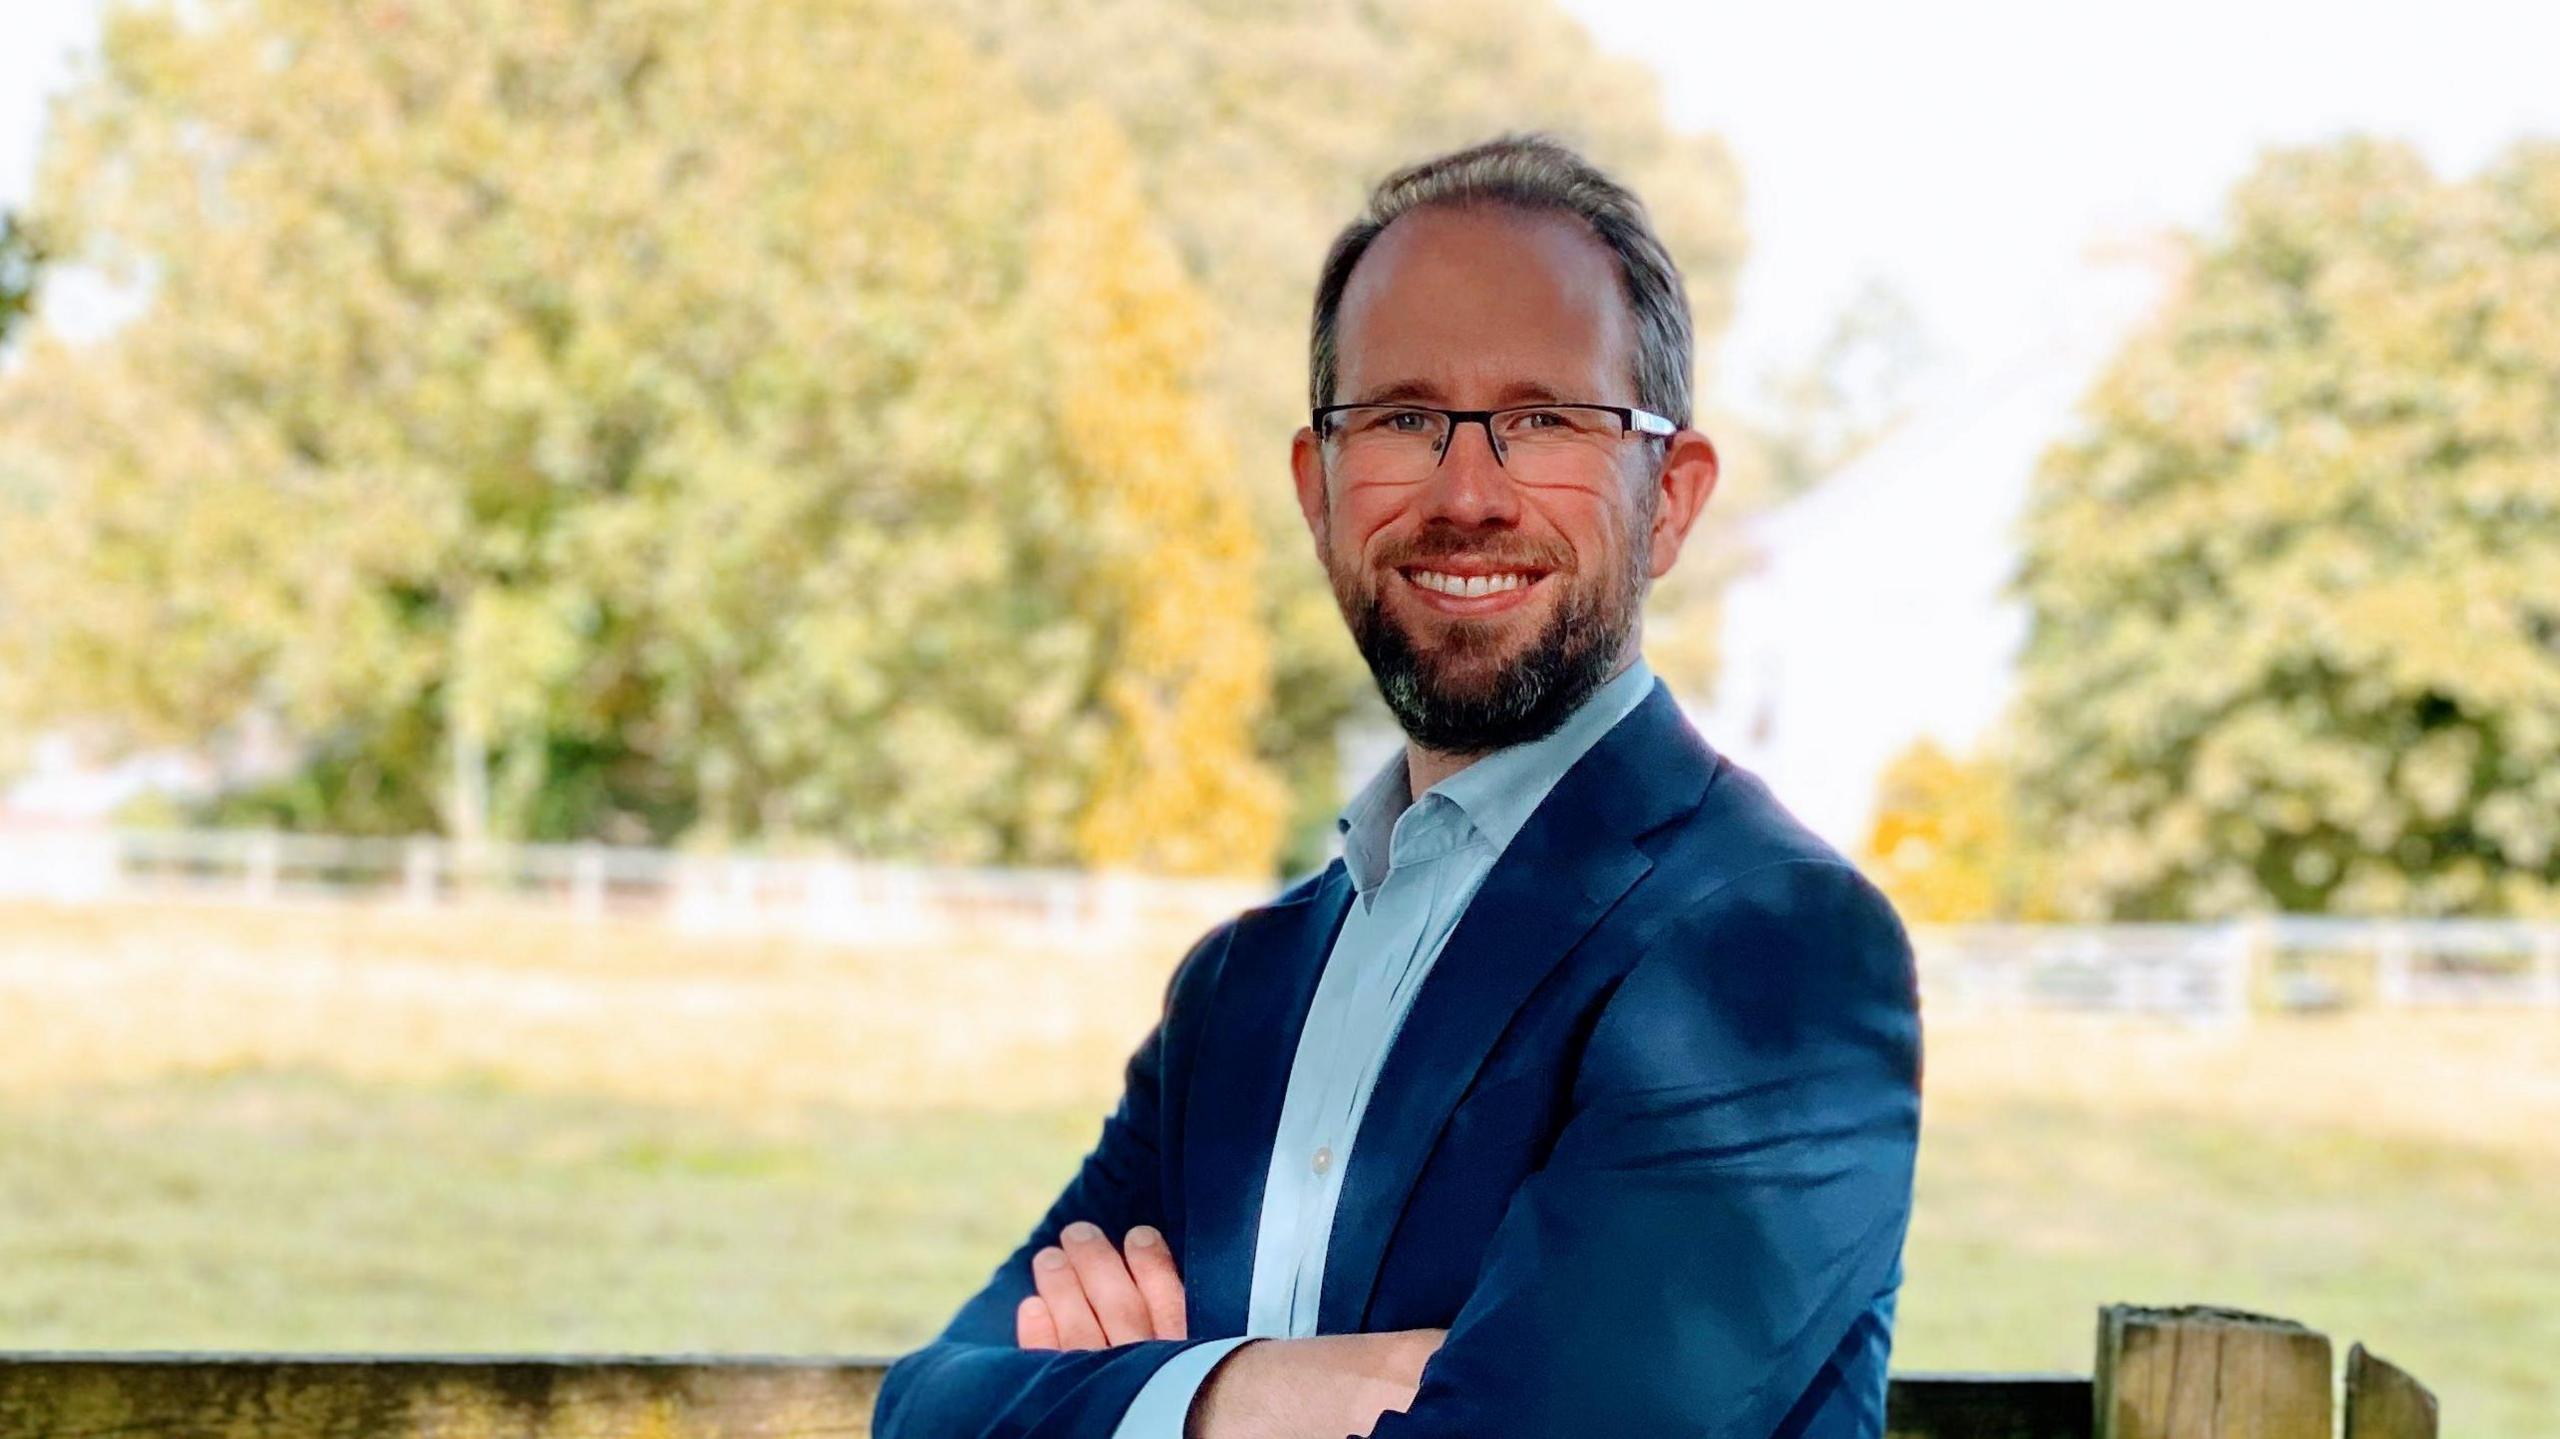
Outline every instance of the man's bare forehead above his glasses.
<svg viewBox="0 0 2560 1439"><path fill-rule="evenodd" d="M1626 384L1633 348L1600 236L1510 205L1398 218L1352 269L1336 333L1341 399L1595 399Z"/></svg>

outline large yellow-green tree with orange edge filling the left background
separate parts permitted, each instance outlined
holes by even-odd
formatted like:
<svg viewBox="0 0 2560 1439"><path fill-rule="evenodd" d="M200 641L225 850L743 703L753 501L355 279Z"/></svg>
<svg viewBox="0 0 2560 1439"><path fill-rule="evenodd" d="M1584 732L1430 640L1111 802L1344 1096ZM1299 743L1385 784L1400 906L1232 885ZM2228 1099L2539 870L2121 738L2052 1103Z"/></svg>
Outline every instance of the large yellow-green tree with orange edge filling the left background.
<svg viewBox="0 0 2560 1439"><path fill-rule="evenodd" d="M1270 868L1203 302L955 31L125 8L56 120L38 215L148 305L0 387L15 720L266 717L297 824Z"/></svg>

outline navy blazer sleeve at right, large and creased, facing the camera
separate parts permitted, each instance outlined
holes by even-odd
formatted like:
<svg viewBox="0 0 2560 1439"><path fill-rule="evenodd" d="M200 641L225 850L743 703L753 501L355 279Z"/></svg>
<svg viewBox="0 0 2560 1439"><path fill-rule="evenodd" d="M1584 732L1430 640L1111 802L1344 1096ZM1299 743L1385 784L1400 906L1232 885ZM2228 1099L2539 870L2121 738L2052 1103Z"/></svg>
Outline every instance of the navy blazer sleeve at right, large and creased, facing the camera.
<svg viewBox="0 0 2560 1439"><path fill-rule="evenodd" d="M1853 1329L1900 1280L1917 1139L1892 906L1828 858L1746 871L1610 993L1546 1165L1372 1439L1882 1431L1882 1393L1815 1385L1874 1344Z"/></svg>

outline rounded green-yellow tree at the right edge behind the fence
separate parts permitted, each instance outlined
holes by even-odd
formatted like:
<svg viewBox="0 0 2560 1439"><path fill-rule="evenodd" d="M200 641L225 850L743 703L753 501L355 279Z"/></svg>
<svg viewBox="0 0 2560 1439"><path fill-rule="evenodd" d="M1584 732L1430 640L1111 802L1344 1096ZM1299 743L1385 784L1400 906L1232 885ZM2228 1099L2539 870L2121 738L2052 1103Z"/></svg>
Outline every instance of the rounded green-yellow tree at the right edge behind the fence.
<svg viewBox="0 0 2560 1439"><path fill-rule="evenodd" d="M2020 778L2076 909L2560 899L2560 146L2281 151L2035 486Z"/></svg>

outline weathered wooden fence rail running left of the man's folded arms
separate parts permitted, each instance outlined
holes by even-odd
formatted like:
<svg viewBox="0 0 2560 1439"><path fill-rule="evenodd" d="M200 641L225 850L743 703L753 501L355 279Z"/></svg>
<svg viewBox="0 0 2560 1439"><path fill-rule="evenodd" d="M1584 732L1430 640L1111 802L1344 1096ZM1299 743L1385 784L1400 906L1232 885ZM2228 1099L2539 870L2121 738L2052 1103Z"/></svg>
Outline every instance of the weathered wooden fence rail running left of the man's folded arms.
<svg viewBox="0 0 2560 1439"><path fill-rule="evenodd" d="M44 1439L865 1439L878 1360L0 1355Z"/></svg>

